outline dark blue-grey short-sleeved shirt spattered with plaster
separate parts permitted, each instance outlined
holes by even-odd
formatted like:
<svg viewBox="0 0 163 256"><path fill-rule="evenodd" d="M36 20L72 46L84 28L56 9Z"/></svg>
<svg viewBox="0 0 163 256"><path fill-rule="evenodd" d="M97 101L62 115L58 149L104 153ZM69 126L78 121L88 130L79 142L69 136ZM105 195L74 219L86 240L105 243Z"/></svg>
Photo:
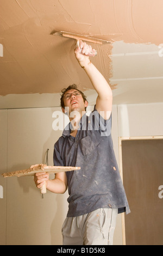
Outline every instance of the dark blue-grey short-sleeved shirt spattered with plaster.
<svg viewBox="0 0 163 256"><path fill-rule="evenodd" d="M66 172L68 182L67 217L88 214L98 208L130 209L118 170L111 138L111 116L104 120L94 109L80 119L76 137L71 123L54 145L55 166L77 166Z"/></svg>

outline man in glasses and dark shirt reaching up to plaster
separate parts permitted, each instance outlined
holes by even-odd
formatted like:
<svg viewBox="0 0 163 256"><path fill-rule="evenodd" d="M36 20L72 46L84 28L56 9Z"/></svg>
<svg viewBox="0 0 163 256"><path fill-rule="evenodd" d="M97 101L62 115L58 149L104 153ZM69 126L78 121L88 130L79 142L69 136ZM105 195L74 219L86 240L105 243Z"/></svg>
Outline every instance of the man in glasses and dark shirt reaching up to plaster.
<svg viewBox="0 0 163 256"><path fill-rule="evenodd" d="M90 50L80 40L74 53L98 93L95 109L86 116L88 102L76 85L62 90L62 111L71 122L54 145L55 166L81 169L58 173L54 180L46 173L34 178L37 187L46 181L47 189L54 193L64 193L68 187L64 245L112 245L117 214L130 212L111 139L112 91L90 62Z"/></svg>

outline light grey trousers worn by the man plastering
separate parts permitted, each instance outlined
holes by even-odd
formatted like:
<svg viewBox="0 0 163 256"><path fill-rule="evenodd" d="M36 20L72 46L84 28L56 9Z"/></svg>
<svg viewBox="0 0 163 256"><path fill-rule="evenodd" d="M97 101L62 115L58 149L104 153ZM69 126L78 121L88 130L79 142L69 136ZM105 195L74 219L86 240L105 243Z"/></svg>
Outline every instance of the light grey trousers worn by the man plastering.
<svg viewBox="0 0 163 256"><path fill-rule="evenodd" d="M78 217L66 217L63 245L112 245L118 209L97 209Z"/></svg>

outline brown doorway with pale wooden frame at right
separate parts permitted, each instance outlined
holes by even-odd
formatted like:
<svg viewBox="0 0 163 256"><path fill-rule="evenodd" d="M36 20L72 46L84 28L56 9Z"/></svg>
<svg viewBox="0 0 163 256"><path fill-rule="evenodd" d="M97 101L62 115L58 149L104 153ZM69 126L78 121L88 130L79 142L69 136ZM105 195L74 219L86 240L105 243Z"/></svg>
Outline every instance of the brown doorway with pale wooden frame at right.
<svg viewBox="0 0 163 256"><path fill-rule="evenodd" d="M163 245L163 136L120 137L120 173L130 214L123 245Z"/></svg>

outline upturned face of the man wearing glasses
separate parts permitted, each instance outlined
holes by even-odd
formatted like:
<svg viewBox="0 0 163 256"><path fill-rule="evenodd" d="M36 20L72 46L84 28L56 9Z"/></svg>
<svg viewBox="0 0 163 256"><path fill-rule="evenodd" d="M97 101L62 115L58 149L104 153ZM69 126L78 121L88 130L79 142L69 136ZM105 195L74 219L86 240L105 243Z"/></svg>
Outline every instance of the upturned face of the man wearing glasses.
<svg viewBox="0 0 163 256"><path fill-rule="evenodd" d="M82 113L85 111L85 107L87 107L87 101L84 102L82 94L78 92L78 90L71 89L68 90L64 95L64 104L65 107L69 107L69 113L72 111L78 111ZM62 108L62 111L65 113L65 109Z"/></svg>

